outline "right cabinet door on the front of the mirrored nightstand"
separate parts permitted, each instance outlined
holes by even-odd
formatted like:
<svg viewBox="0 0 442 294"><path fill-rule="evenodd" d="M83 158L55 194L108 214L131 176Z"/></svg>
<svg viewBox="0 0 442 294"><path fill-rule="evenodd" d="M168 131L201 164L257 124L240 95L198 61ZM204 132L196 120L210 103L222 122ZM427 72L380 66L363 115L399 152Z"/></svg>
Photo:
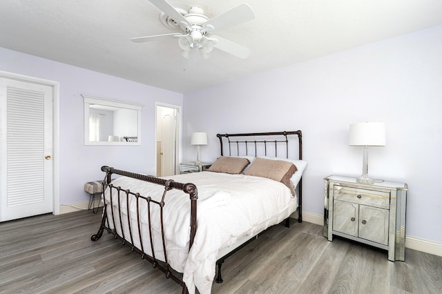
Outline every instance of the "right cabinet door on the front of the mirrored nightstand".
<svg viewBox="0 0 442 294"><path fill-rule="evenodd" d="M361 205L359 207L358 236L379 244L388 245L387 209Z"/></svg>

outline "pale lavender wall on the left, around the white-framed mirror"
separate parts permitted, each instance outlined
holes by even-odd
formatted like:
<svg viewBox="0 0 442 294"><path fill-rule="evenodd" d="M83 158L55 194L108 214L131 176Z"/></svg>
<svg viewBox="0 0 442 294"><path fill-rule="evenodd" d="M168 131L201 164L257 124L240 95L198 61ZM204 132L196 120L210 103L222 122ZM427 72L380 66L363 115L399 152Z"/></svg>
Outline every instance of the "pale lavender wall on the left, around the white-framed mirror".
<svg viewBox="0 0 442 294"><path fill-rule="evenodd" d="M0 70L60 84L60 204L88 201L84 183L102 179L101 166L155 173L155 101L182 106L183 95L0 48ZM84 146L81 94L143 104L141 146Z"/></svg>

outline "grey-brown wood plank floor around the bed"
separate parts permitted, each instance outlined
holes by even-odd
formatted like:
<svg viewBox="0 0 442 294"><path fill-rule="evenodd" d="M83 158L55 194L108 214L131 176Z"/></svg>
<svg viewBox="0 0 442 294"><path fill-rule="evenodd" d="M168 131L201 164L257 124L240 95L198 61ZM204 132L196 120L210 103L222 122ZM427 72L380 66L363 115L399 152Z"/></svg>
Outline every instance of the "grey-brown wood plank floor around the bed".
<svg viewBox="0 0 442 294"><path fill-rule="evenodd" d="M128 246L104 233L91 210L0 224L0 293L181 293ZM406 249L405 262L323 227L273 226L222 266L212 293L442 293L442 257Z"/></svg>

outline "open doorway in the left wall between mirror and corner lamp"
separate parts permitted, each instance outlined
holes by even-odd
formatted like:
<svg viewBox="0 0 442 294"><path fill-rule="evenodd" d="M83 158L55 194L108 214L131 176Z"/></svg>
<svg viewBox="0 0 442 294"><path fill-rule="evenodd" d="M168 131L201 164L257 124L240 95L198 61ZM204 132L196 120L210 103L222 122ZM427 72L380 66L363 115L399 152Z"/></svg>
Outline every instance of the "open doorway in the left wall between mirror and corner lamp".
<svg viewBox="0 0 442 294"><path fill-rule="evenodd" d="M155 103L157 177L179 173L180 112L180 106Z"/></svg>

